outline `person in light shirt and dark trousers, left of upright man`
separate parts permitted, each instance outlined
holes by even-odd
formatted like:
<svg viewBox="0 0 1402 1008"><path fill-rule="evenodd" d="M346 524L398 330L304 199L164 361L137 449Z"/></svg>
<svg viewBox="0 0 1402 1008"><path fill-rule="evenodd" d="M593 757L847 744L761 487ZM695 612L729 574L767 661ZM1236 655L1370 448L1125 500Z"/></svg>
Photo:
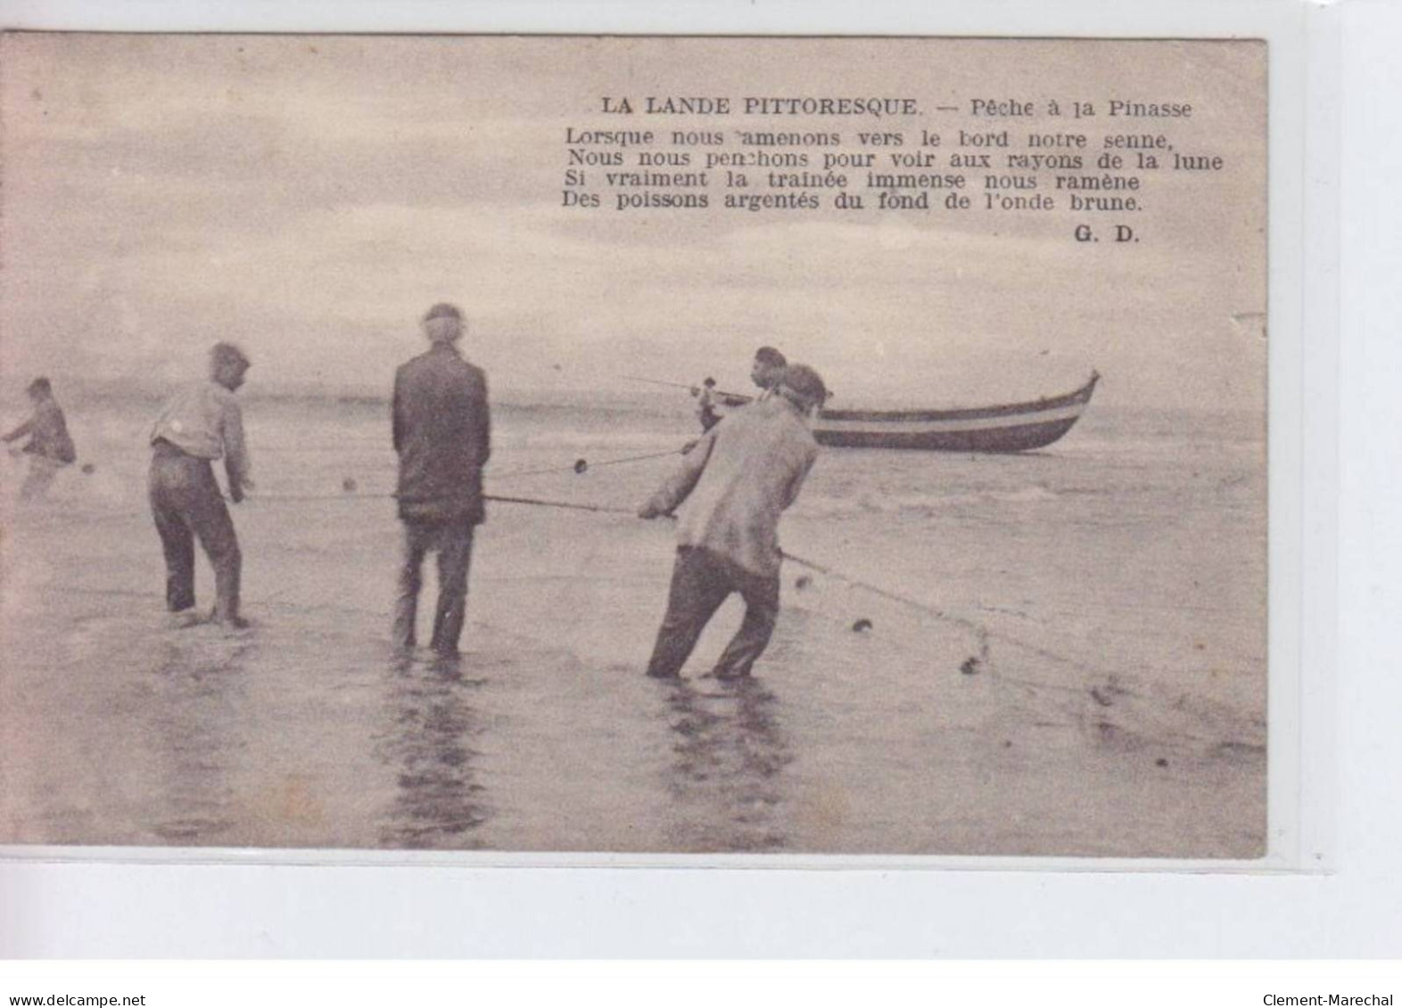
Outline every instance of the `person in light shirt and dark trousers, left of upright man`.
<svg viewBox="0 0 1402 1008"><path fill-rule="evenodd" d="M193 622L195 540L215 568L213 622L244 628L238 613L243 554L229 508L219 492L213 463L224 460L234 503L254 486L250 478L244 418L234 393L244 384L248 357L233 343L209 352L209 381L178 391L151 429L149 492L156 531L165 552L165 607Z"/></svg>

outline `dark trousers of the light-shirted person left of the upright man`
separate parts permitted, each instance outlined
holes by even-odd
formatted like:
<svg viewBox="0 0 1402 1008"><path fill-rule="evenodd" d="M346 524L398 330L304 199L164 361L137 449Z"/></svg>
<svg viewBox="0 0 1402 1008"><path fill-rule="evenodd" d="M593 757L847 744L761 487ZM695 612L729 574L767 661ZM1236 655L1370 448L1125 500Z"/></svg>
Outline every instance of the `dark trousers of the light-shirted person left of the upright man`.
<svg viewBox="0 0 1402 1008"><path fill-rule="evenodd" d="M243 554L209 460L156 444L147 493L165 554L165 607L179 613L195 606L198 538L215 568L215 618L237 620Z"/></svg>

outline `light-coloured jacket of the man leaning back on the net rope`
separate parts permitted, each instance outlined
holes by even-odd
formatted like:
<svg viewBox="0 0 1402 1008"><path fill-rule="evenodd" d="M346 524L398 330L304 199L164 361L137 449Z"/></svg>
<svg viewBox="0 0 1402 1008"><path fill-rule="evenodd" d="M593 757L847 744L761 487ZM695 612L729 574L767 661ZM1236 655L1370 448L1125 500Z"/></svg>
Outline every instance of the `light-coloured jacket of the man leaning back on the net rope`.
<svg viewBox="0 0 1402 1008"><path fill-rule="evenodd" d="M686 502L679 545L729 557L746 571L777 576L780 515L798 499L817 458L817 442L782 398L736 409L684 457L644 505L670 515Z"/></svg>

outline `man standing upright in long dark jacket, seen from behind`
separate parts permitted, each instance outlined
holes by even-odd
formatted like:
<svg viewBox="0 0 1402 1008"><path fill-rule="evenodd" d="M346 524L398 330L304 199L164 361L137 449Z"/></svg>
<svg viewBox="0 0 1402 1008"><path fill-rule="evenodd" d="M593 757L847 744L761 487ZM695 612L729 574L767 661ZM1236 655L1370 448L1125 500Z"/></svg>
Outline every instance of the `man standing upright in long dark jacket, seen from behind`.
<svg viewBox="0 0 1402 1008"><path fill-rule="evenodd" d="M423 317L426 353L394 376L394 450L400 456L400 520L404 562L394 607L394 643L415 645L423 558L437 551L439 599L432 646L457 653L467 613L472 533L485 520L482 467L491 456L486 376L463 360L463 313L435 304Z"/></svg>

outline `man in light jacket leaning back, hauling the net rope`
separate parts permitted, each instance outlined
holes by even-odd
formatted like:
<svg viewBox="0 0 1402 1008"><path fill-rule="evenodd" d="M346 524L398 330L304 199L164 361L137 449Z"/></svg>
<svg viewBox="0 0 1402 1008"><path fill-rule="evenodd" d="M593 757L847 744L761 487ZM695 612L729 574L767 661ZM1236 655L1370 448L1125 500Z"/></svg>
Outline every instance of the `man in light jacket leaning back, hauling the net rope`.
<svg viewBox="0 0 1402 1008"><path fill-rule="evenodd" d="M798 499L817 458L808 418L826 398L812 367L785 369L770 400L712 428L638 509L639 517L652 519L691 502L677 526L667 613L649 676L680 674L701 631L732 592L744 599L744 621L712 674L743 679L764 653L780 611L780 515Z"/></svg>

